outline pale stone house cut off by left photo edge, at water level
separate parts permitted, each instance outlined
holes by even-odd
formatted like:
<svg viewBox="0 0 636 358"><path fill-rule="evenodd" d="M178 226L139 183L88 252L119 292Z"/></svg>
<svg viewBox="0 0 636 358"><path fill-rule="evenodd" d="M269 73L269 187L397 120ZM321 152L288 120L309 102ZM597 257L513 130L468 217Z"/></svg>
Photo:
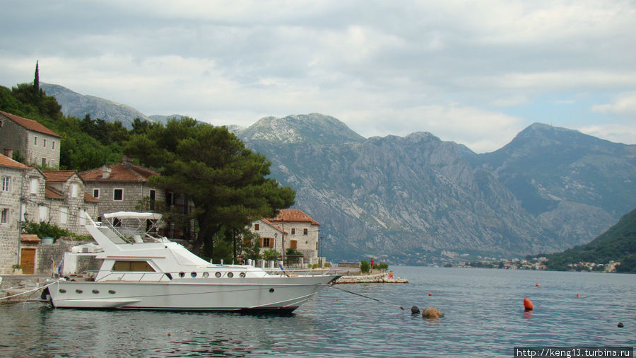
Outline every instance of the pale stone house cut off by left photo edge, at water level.
<svg viewBox="0 0 636 358"><path fill-rule="evenodd" d="M28 169L0 154L0 274L11 273L20 260L20 197Z"/></svg>

